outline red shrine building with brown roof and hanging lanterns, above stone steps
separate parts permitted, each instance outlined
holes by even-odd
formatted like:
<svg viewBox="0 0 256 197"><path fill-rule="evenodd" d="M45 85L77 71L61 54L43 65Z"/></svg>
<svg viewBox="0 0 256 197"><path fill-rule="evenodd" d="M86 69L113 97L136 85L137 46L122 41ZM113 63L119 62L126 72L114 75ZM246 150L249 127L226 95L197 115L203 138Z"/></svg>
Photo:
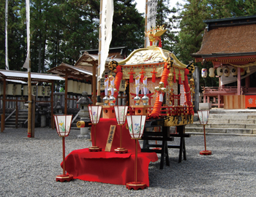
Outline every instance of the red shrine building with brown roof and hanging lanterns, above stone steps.
<svg viewBox="0 0 256 197"><path fill-rule="evenodd" d="M219 77L219 87L203 88L203 102L213 97L218 108L256 107L256 15L203 22L203 42L192 57L211 61L207 77Z"/></svg>

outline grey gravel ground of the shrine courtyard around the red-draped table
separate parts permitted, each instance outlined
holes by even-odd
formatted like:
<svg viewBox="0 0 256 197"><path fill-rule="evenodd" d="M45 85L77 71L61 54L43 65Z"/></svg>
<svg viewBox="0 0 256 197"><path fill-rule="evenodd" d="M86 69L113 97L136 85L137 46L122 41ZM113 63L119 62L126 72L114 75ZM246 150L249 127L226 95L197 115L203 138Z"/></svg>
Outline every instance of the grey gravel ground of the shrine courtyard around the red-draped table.
<svg viewBox="0 0 256 197"><path fill-rule="evenodd" d="M91 146L72 130L66 138L66 155ZM149 164L150 187L127 190L124 185L86 182L56 182L62 174L61 138L51 128L36 128L27 139L27 129L6 128L0 133L0 196L255 196L255 136L207 135L186 139L187 161L178 163L178 150L169 150L170 166ZM170 144L178 143L178 139ZM160 157L160 155L158 155Z"/></svg>

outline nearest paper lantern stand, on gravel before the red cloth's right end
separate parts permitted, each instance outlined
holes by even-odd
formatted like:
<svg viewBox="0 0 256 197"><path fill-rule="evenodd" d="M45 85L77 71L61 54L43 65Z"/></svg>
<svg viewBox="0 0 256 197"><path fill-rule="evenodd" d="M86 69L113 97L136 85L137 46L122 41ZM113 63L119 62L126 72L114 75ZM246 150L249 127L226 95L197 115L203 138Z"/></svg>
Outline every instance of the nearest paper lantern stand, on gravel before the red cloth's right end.
<svg viewBox="0 0 256 197"><path fill-rule="evenodd" d="M129 115L127 116L127 123L129 128L129 134L132 136L132 139L135 139L135 182L127 182L126 188L128 190L134 189L145 189L145 182L138 182L138 168L137 168L137 159L138 159L138 139L141 139L143 135L143 130L146 122L146 115Z"/></svg>

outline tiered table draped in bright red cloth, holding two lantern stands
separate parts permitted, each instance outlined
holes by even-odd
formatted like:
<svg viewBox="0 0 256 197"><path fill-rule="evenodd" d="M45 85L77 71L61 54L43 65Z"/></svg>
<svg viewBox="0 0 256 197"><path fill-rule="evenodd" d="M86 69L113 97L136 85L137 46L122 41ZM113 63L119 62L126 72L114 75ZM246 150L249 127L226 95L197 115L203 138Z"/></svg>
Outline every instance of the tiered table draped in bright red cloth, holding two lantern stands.
<svg viewBox="0 0 256 197"><path fill-rule="evenodd" d="M110 125L116 125L111 152L105 152ZM72 174L74 179L82 179L93 182L105 182L116 185L126 185L135 181L135 140L131 139L129 131L124 124L122 126L123 147L128 153L118 154L113 152L120 146L120 126L116 119L99 120L97 124L97 146L102 147L102 152L89 152L88 148L73 150L67 155L66 171ZM91 128L91 141L94 142L94 125ZM138 145L138 181L145 182L149 186L148 164L157 161L157 153L140 152ZM62 164L62 163L61 163Z"/></svg>

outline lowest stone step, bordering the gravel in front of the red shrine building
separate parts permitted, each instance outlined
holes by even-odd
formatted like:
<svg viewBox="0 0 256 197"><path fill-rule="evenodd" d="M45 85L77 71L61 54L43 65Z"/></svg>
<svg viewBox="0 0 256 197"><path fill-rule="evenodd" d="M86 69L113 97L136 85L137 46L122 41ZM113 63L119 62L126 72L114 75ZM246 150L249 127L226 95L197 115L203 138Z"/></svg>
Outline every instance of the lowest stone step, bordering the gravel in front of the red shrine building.
<svg viewBox="0 0 256 197"><path fill-rule="evenodd" d="M203 133L203 128L187 127L186 133ZM206 133L222 133L222 134L256 134L254 128L206 128Z"/></svg>

